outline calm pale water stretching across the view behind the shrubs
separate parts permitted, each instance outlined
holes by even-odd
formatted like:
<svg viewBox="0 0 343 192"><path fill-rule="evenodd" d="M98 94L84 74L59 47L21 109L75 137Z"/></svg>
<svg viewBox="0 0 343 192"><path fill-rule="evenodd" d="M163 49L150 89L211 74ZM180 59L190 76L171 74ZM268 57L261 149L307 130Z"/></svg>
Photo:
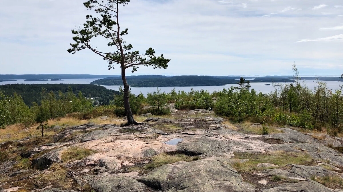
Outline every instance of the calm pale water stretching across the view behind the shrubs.
<svg viewBox="0 0 343 192"><path fill-rule="evenodd" d="M17 81L11 81L11 82L0 82L0 85L4 84L15 84L15 83L24 83L24 84L58 84L58 83L75 83L75 84L90 84L92 81L95 81L97 79L64 79L63 81L35 81L35 82L24 82L24 80L17 80ZM314 89L316 81L315 80L305 80L301 81L303 84L305 83L308 88ZM327 83L328 87L332 90L339 89L339 85L343 84L343 82L339 81L322 81ZM274 90L273 86L267 86L264 85L267 83L250 83L251 88L255 89L257 92L262 93L270 93ZM290 84L290 83L287 83ZM112 90L119 90L119 85L102 85L108 89ZM195 91L197 90L207 90L209 92L213 91L220 91L223 88L230 88L231 86L237 86L237 84L227 84L224 86L197 86L197 87L175 87L176 90L184 90L185 92L189 92L191 88L193 88ZM174 87L158 87L161 89L162 92L169 93ZM131 92L135 95L138 95L140 93L143 93L146 95L147 93L151 93L153 91L156 91L156 87L131 87Z"/></svg>

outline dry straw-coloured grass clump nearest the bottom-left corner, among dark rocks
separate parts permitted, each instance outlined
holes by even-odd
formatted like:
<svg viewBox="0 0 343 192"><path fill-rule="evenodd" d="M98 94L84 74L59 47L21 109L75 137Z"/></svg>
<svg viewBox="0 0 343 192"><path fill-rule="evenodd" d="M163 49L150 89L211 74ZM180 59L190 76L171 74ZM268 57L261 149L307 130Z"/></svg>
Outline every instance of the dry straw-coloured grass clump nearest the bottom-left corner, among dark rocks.
<svg viewBox="0 0 343 192"><path fill-rule="evenodd" d="M37 183L57 185L63 188L70 188L73 180L67 176L68 170L61 164L52 164L48 171L37 177Z"/></svg>

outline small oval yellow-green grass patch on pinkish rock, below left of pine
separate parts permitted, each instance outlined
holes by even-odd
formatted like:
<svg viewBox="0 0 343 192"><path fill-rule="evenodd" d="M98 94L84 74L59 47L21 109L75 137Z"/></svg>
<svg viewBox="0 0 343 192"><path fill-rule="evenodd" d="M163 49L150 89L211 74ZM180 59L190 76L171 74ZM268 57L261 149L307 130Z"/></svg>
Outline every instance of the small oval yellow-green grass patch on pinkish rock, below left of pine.
<svg viewBox="0 0 343 192"><path fill-rule="evenodd" d="M75 160L81 160L84 157L95 153L94 150L79 148L79 147L70 147L66 151L63 151L61 159L64 163L73 162Z"/></svg>

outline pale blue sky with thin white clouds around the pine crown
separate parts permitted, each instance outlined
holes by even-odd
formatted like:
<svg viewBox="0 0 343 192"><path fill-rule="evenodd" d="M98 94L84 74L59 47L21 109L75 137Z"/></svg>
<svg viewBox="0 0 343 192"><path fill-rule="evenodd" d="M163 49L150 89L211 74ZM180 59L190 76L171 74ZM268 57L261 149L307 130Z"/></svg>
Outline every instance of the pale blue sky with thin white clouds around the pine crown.
<svg viewBox="0 0 343 192"><path fill-rule="evenodd" d="M120 74L67 52L71 30L95 14L84 1L2 0L0 74ZM134 50L171 59L127 75L291 75L294 62L300 75L343 73L342 0L131 0L119 19Z"/></svg>

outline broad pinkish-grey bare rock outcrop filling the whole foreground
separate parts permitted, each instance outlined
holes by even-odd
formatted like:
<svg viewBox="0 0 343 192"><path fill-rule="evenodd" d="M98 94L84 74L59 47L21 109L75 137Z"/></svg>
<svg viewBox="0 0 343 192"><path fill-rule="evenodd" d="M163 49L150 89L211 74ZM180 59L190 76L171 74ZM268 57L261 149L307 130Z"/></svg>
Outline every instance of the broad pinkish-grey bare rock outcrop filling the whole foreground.
<svg viewBox="0 0 343 192"><path fill-rule="evenodd" d="M203 109L176 111L170 119L146 116L145 122L134 126L87 123L61 128L52 143L26 150L23 145L29 139L1 143L1 151L19 151L33 165L20 170L19 160L0 162L0 178L15 178L4 182L4 188L46 192L74 192L81 187L97 192L339 192L311 179L342 178L343 154L330 148L340 147L341 138L304 134L294 127L269 127L278 133L249 135L241 127L244 125L224 122ZM255 123L249 129L261 126ZM63 162L61 154L70 147L94 153ZM273 160L274 153L275 158L287 153L295 159L306 153L312 159L306 156L306 161L292 160L293 164L285 165ZM302 162L304 165L294 164ZM71 190L59 189L64 185L58 182L37 181L42 174L54 174L55 166L49 168L53 163L63 167L66 175L62 178L73 182L69 183ZM23 183L34 184L30 188Z"/></svg>

